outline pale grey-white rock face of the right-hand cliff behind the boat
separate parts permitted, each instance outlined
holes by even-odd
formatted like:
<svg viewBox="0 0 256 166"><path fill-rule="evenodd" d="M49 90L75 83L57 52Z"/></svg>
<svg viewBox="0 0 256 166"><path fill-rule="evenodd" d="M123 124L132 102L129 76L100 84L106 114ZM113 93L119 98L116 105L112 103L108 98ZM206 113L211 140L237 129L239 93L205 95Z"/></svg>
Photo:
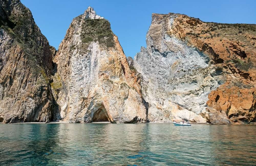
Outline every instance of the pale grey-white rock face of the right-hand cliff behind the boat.
<svg viewBox="0 0 256 166"><path fill-rule="evenodd" d="M143 76L142 94L148 102L148 120L206 122L208 94L218 87L216 69L207 55L189 47L169 32L175 15L152 20L146 35L147 48L134 57L134 67Z"/></svg>

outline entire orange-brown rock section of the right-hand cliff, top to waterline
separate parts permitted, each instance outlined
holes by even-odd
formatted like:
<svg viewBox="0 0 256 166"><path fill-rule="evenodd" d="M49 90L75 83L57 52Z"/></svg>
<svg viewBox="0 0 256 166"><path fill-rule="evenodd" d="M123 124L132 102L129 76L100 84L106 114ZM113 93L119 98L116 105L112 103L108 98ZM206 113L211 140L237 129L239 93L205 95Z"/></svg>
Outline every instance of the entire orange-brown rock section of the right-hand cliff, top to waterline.
<svg viewBox="0 0 256 166"><path fill-rule="evenodd" d="M210 63L227 73L226 83L209 94L207 105L233 124L255 122L256 26L202 22L186 15L174 20L169 34L207 53Z"/></svg>

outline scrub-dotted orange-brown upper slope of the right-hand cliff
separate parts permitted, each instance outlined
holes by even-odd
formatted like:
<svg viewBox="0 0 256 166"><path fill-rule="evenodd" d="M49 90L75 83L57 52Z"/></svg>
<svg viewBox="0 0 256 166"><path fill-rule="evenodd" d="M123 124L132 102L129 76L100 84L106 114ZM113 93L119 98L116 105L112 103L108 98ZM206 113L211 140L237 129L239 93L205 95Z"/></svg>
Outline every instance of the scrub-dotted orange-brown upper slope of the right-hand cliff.
<svg viewBox="0 0 256 166"><path fill-rule="evenodd" d="M185 21L183 21L185 18ZM249 71L256 68L256 25L202 22L188 16L179 19L185 34L206 43L226 63ZM218 63L218 62L216 62Z"/></svg>

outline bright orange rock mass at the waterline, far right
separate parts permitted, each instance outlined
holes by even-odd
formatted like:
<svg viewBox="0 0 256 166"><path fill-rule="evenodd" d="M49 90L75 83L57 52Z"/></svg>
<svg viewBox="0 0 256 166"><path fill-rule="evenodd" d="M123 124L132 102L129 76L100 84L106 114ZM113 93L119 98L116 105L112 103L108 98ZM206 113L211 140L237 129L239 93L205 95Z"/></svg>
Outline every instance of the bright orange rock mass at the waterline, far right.
<svg viewBox="0 0 256 166"><path fill-rule="evenodd" d="M225 112L234 124L253 122L255 119L255 87L243 88L223 85L209 94L207 105Z"/></svg>

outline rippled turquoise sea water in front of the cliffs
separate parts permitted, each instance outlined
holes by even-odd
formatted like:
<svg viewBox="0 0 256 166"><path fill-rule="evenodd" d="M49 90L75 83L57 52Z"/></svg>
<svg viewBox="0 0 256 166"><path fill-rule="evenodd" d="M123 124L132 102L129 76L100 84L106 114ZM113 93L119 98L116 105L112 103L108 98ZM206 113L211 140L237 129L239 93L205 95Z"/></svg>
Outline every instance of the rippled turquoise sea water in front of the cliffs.
<svg viewBox="0 0 256 166"><path fill-rule="evenodd" d="M0 124L0 165L255 165L256 126Z"/></svg>

